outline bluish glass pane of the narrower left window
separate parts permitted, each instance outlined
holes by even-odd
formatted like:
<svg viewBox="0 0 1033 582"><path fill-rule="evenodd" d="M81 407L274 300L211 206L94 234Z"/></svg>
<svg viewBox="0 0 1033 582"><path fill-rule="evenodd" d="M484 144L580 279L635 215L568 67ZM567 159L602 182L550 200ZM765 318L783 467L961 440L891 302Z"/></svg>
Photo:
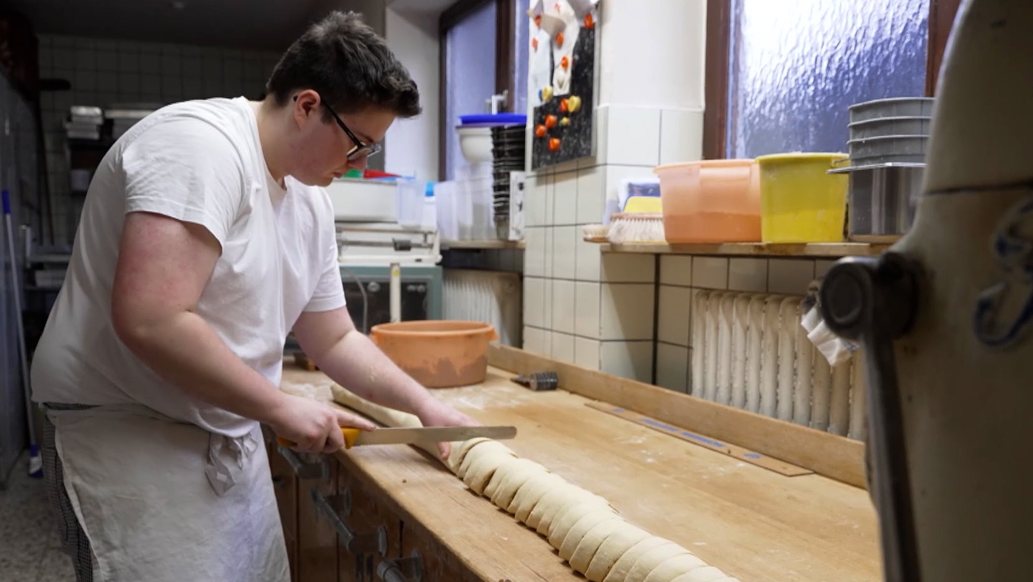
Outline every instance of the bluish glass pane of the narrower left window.
<svg viewBox="0 0 1033 582"><path fill-rule="evenodd" d="M459 116L486 113L495 94L495 2L484 2L445 36L445 180L466 164L456 133Z"/></svg>

